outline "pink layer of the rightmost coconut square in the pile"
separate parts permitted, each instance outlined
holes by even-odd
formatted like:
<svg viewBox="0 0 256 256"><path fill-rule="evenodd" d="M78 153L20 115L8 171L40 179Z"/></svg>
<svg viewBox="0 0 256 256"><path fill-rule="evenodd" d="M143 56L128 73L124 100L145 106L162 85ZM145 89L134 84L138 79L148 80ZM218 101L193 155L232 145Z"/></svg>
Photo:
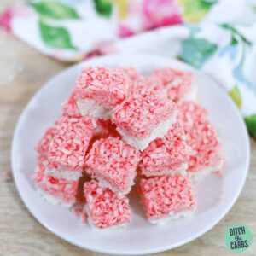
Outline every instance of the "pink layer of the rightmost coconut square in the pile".
<svg viewBox="0 0 256 256"><path fill-rule="evenodd" d="M212 124L207 119L207 110L194 102L180 103L178 108L182 113L188 144L188 171L196 172L207 167L219 166L223 161L221 145Z"/></svg>

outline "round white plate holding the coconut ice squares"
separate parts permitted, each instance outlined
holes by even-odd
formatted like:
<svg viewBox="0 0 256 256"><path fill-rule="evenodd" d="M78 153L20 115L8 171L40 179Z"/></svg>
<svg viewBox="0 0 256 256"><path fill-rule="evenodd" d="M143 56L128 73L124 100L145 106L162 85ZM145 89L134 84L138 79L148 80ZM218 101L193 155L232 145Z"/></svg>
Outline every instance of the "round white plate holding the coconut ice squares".
<svg viewBox="0 0 256 256"><path fill-rule="evenodd" d="M81 67L137 67L148 73L156 67L190 69L179 61L157 55L108 55L67 68L33 96L16 127L12 147L15 183L26 207L48 230L79 247L122 255L156 253L181 246L210 230L230 210L247 177L250 148L246 127L223 90L207 75L195 72L201 104L208 109L224 146L224 177L209 175L196 185L198 208L190 218L152 225L142 208L131 201L133 220L125 229L91 230L66 208L52 206L35 193L31 176L35 146L61 112L61 102L73 90Z"/></svg>

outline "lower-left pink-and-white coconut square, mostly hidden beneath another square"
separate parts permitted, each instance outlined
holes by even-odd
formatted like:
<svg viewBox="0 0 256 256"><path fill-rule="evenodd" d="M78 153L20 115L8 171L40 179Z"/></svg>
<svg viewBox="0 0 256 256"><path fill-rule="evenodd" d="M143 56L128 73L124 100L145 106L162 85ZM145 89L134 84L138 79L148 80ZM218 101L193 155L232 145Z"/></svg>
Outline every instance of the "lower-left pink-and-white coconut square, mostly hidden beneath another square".
<svg viewBox="0 0 256 256"><path fill-rule="evenodd" d="M38 193L51 204L71 207L76 201L81 172L61 172L46 167L44 156L39 157L34 179Z"/></svg>

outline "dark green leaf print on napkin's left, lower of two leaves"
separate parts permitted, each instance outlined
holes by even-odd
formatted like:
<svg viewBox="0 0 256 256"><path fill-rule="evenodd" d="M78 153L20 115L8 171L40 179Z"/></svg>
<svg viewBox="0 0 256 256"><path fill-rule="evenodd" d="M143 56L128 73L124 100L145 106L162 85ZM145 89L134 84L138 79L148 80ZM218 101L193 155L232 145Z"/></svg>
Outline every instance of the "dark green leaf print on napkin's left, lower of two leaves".
<svg viewBox="0 0 256 256"><path fill-rule="evenodd" d="M41 36L44 43L56 49L76 49L70 39L65 27L49 26L42 21L39 24Z"/></svg>

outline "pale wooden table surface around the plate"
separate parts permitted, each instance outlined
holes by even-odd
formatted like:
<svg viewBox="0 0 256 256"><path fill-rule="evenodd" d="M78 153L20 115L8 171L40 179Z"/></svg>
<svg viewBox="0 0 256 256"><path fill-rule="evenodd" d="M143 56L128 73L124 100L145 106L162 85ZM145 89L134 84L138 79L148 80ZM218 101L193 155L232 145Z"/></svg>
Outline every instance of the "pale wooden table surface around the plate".
<svg viewBox="0 0 256 256"><path fill-rule="evenodd" d="M0 13L13 0L1 0ZM17 1L16 1L17 2ZM10 146L17 119L26 102L67 64L30 49L0 30L0 177L11 171ZM224 247L224 230L247 224L256 233L256 143L251 141L250 171L242 193L230 212L207 234L187 245L155 255L234 255ZM86 239L86 237L84 237ZM256 255L254 245L246 255ZM102 255L62 241L32 217L20 200L15 183L0 178L0 255Z"/></svg>

